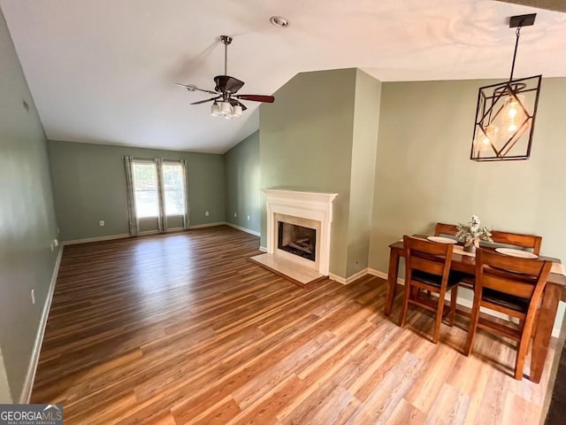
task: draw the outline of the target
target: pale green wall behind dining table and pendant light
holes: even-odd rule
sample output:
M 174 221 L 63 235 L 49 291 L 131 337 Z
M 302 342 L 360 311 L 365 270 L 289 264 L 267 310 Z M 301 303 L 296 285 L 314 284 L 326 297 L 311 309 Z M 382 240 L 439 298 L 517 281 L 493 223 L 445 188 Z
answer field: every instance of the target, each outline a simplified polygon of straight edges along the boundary
M 370 267 L 386 272 L 387 245 L 434 223 L 477 214 L 500 230 L 543 236 L 566 260 L 566 79 L 542 82 L 532 155 L 470 161 L 478 88 L 493 81 L 382 84 Z

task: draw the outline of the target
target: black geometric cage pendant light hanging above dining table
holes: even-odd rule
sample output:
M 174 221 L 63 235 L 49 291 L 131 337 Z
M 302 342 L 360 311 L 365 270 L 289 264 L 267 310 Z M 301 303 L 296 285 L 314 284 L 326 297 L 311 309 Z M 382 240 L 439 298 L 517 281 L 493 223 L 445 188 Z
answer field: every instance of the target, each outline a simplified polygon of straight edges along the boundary
M 532 13 L 509 19 L 509 27 L 516 28 L 511 74 L 509 81 L 479 88 L 470 159 L 501 161 L 528 159 L 531 155 L 542 75 L 513 80 L 513 72 L 521 28 L 532 26 L 536 16 Z

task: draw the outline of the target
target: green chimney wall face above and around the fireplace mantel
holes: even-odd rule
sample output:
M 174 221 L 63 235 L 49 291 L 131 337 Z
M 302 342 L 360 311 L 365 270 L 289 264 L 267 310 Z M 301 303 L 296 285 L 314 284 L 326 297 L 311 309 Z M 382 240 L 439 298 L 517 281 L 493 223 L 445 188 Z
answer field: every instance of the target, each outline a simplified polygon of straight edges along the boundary
M 330 272 L 346 276 L 356 69 L 299 73 L 259 114 L 261 188 L 335 192 Z M 262 239 L 266 217 L 262 202 Z

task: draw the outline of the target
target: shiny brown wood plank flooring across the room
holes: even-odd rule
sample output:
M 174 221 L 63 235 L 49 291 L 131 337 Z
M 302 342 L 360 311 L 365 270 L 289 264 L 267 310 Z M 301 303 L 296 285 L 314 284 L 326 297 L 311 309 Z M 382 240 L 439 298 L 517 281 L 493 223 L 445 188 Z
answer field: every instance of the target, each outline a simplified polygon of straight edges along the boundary
M 480 332 L 467 358 L 464 320 L 432 344 L 428 313 L 383 315 L 379 278 L 304 290 L 257 246 L 225 226 L 65 246 L 32 402 L 66 425 L 539 423 L 550 367 L 516 382 L 511 343 Z

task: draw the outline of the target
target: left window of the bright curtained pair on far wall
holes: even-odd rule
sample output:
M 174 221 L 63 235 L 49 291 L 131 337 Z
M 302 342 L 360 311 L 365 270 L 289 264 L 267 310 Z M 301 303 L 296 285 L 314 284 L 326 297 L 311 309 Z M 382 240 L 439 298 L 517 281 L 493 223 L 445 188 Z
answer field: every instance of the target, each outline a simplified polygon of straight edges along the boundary
M 135 210 L 138 219 L 148 219 L 159 215 L 157 196 L 157 171 L 153 162 L 134 161 Z

